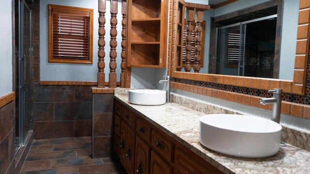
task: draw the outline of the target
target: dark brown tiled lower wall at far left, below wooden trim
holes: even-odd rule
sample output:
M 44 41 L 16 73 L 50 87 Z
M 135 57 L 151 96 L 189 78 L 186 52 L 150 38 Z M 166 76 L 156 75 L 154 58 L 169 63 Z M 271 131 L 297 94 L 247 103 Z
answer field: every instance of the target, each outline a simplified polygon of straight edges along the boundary
M 15 169 L 15 100 L 0 107 L 0 173 Z

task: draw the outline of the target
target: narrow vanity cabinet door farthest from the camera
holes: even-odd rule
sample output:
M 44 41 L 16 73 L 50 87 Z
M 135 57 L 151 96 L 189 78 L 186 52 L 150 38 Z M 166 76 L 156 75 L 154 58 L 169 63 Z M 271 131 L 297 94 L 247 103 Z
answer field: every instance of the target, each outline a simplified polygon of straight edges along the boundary
M 122 120 L 121 121 L 121 142 L 120 142 L 120 160 L 124 166 L 124 168 L 126 168 L 126 154 L 127 154 L 127 147 L 126 147 L 126 138 L 127 138 L 127 129 L 128 126 L 127 124 Z

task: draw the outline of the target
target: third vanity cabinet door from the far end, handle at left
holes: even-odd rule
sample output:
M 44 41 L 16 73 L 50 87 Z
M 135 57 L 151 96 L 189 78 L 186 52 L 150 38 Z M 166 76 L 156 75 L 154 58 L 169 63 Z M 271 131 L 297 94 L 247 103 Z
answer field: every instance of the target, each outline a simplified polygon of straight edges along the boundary
M 136 136 L 136 165 L 138 174 L 149 174 L 150 147 Z

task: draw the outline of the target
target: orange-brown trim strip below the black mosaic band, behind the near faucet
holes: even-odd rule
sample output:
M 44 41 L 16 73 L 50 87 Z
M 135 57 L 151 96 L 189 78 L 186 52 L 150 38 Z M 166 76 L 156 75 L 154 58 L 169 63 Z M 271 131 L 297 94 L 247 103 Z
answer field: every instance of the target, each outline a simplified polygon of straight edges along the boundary
M 195 94 L 205 95 L 208 97 L 213 97 L 221 100 L 226 100 L 230 102 L 236 102 L 239 104 L 244 104 L 248 106 L 253 106 L 256 108 L 261 108 L 265 110 L 271 110 L 272 105 L 263 105 L 259 102 L 259 96 L 252 96 L 247 94 L 240 94 L 236 92 L 223 91 L 219 89 L 212 89 L 207 87 L 199 87 L 195 85 L 181 84 L 177 82 L 171 82 L 171 88 L 192 92 Z M 298 116 L 305 119 L 310 119 L 310 105 L 298 104 L 292 102 L 281 102 L 281 113 L 291 116 Z

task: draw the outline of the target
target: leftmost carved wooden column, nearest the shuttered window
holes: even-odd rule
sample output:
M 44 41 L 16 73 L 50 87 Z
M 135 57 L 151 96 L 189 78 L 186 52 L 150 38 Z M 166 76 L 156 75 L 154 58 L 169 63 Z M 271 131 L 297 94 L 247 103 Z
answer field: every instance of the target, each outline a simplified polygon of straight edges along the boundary
M 98 17 L 98 23 L 99 23 L 99 29 L 98 29 L 98 73 L 97 73 L 97 87 L 105 87 L 105 24 L 106 24 L 106 18 L 105 18 L 105 13 L 106 13 L 106 0 L 99 0 L 99 17 Z

